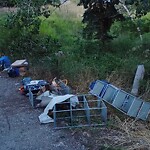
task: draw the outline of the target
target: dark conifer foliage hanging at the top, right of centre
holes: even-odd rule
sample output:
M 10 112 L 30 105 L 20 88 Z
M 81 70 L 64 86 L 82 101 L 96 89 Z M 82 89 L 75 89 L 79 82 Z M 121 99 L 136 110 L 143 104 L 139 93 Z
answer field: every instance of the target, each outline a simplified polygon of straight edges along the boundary
M 114 7 L 118 1 L 104 2 L 104 1 L 89 1 L 88 5 L 84 3 L 87 10 L 84 13 L 83 23 L 86 23 L 84 29 L 84 37 L 98 38 L 102 41 L 111 38 L 107 31 L 110 29 L 114 19 L 123 20 L 123 16 L 119 14 Z

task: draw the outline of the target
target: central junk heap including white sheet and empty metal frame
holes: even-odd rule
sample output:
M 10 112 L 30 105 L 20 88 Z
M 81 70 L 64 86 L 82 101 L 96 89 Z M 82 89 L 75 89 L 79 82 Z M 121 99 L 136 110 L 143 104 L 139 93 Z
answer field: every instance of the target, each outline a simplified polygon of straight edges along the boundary
M 30 77 L 23 78 L 20 86 L 20 93 L 28 96 L 31 106 L 33 108 L 44 108 L 44 112 L 39 116 L 40 123 L 54 123 L 55 128 L 69 127 L 68 123 L 71 122 L 71 127 L 75 126 L 90 126 L 90 117 L 92 110 L 101 110 L 103 113 L 98 113 L 106 124 L 107 108 L 105 104 L 99 100 L 87 100 L 90 94 L 74 95 L 72 89 L 68 86 L 67 79 L 57 79 L 56 77 L 52 82 L 46 80 L 32 80 Z M 91 101 L 91 102 L 90 102 Z M 89 103 L 97 103 L 96 107 L 89 107 Z M 82 115 L 79 115 L 79 112 Z M 61 117 L 60 117 L 61 114 Z M 85 123 L 81 121 L 85 118 Z M 58 120 L 65 121 L 67 125 L 58 127 Z M 75 122 L 76 121 L 76 122 Z

